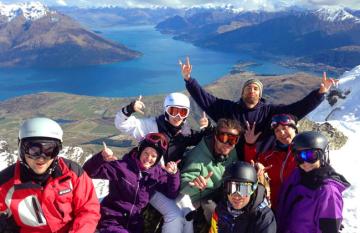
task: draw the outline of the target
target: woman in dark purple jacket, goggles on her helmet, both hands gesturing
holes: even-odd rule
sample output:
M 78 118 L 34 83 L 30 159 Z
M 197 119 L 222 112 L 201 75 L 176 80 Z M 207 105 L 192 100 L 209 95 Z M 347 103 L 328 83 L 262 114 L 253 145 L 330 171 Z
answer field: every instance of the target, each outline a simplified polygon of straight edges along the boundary
M 161 167 L 158 162 L 166 152 L 168 141 L 161 133 L 149 133 L 123 159 L 117 160 L 106 148 L 83 166 L 91 178 L 109 180 L 109 194 L 101 202 L 101 219 L 97 226 L 105 232 L 143 232 L 142 210 L 155 191 L 175 199 L 180 176 L 177 162 Z

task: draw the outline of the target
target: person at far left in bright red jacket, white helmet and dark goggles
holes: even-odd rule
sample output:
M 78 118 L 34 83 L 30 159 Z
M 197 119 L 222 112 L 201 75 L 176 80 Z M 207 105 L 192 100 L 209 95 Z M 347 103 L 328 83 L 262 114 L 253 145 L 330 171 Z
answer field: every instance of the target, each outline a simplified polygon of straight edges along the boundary
M 19 159 L 0 172 L 0 232 L 92 233 L 100 204 L 82 168 L 58 156 L 63 131 L 48 118 L 26 120 Z

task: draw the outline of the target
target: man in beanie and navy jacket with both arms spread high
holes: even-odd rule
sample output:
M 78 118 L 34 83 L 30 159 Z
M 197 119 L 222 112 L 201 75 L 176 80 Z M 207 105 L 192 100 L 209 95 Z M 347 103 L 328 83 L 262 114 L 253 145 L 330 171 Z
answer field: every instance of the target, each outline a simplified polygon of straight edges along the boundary
M 255 126 L 255 133 L 262 132 L 256 141 L 257 153 L 264 153 L 274 146 L 275 137 L 269 128 L 271 117 L 275 114 L 292 114 L 299 120 L 314 110 L 323 100 L 324 95 L 330 90 L 331 86 L 336 83 L 334 79 L 326 78 L 324 72 L 322 83 L 319 89 L 313 90 L 302 100 L 290 105 L 274 105 L 265 102 L 262 98 L 263 84 L 258 79 L 247 80 L 241 91 L 239 101 L 220 99 L 206 92 L 199 83 L 191 77 L 192 65 L 189 58 L 181 66 L 181 74 L 185 80 L 186 89 L 191 97 L 200 106 L 200 108 L 210 116 L 215 122 L 220 118 L 238 120 L 243 126 L 250 124 Z M 242 141 L 242 143 L 244 143 Z M 241 143 L 237 147 L 241 152 Z M 242 155 L 243 153 L 238 153 Z M 244 158 L 239 157 L 240 160 Z

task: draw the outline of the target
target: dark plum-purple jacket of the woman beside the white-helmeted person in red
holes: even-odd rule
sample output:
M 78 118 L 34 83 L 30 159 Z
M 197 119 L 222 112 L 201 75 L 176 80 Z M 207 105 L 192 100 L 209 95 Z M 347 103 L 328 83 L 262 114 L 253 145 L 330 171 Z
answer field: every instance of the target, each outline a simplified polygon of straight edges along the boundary
M 155 191 L 174 199 L 179 193 L 180 176 L 167 173 L 160 165 L 140 171 L 136 150 L 122 160 L 106 162 L 101 153 L 94 155 L 83 166 L 91 178 L 109 180 L 109 194 L 101 202 L 100 230 L 111 232 L 142 232 L 141 211 Z M 101 232 L 107 232 L 101 231 Z

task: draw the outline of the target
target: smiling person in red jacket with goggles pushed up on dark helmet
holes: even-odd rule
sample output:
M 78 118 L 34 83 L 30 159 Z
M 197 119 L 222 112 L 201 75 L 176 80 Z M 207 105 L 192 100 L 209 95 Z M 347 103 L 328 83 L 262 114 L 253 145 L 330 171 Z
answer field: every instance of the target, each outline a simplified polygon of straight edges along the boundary
M 258 156 L 253 150 L 248 150 L 250 153 L 245 157 L 248 162 L 254 160 L 267 167 L 266 171 L 270 178 L 271 207 L 275 210 L 280 186 L 296 168 L 290 144 L 298 132 L 297 118 L 292 114 L 274 115 L 271 118 L 271 129 L 276 138 L 275 146 Z

